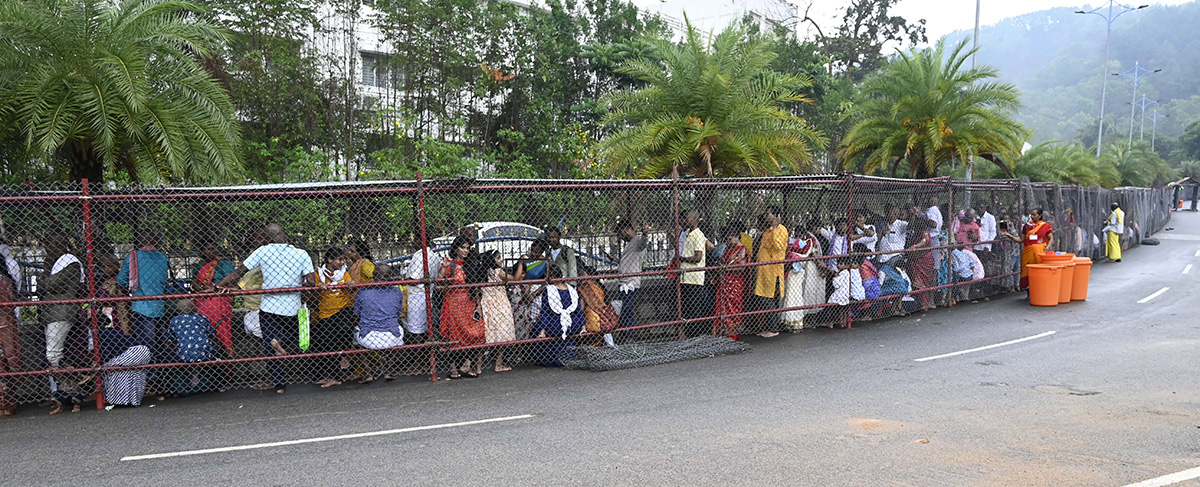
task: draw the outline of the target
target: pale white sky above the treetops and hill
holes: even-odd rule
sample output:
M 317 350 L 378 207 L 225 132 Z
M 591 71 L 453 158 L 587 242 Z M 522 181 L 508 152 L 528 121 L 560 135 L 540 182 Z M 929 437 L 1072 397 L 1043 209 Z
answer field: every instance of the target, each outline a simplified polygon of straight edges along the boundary
M 838 14 L 850 4 L 848 0 L 632 0 L 640 7 L 646 7 L 667 16 L 682 19 L 683 12 L 688 12 L 692 23 L 708 29 L 719 29 L 721 24 L 737 18 L 738 12 L 745 5 L 769 6 L 774 2 L 788 1 L 798 8 L 800 16 L 805 8 L 809 17 L 817 20 L 821 28 L 829 31 L 840 23 Z M 1130 5 L 1177 5 L 1192 0 L 1140 0 Z M 1092 6 L 1088 6 L 1088 5 Z M 980 25 L 995 24 L 1009 17 L 1037 12 L 1052 7 L 1078 7 L 1080 10 L 1092 10 L 1102 2 L 1098 0 L 982 0 L 979 23 Z M 1108 5 L 1106 1 L 1103 5 Z M 901 16 L 908 20 L 925 19 L 925 30 L 930 41 L 935 41 L 947 34 L 960 29 L 972 29 L 974 26 L 976 1 L 974 0 L 900 0 L 893 7 L 893 14 Z M 1096 19 L 1102 23 L 1102 19 Z

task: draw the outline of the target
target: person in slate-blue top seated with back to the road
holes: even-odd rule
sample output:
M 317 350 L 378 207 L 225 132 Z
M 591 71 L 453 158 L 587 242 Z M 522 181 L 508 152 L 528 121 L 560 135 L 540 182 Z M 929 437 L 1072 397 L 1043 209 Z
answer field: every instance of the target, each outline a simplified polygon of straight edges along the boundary
M 386 281 L 391 273 L 388 265 L 374 267 L 376 281 Z M 404 291 L 395 285 L 359 289 L 354 299 L 354 314 L 359 315 L 359 326 L 354 332 L 354 339 L 359 347 L 371 350 L 386 350 L 404 344 L 404 331 L 401 330 L 401 314 L 404 307 Z M 379 367 L 366 363 L 366 377 L 361 383 L 373 381 L 377 373 L 382 372 L 384 380 L 395 380 L 396 371 L 392 368 L 394 356 L 391 353 L 371 355 L 379 359 Z

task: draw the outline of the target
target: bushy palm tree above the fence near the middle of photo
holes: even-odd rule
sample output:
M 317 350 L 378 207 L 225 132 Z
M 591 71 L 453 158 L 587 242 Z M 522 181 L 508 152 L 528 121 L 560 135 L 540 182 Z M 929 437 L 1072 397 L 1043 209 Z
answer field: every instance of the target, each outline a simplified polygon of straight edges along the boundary
M 686 19 L 685 19 L 686 20 Z M 654 58 L 617 71 L 640 88 L 605 96 L 605 124 L 616 132 L 600 144 L 608 172 L 661 178 L 672 167 L 698 178 L 799 173 L 826 139 L 785 103 L 808 102 L 796 90 L 811 80 L 767 66 L 773 41 L 733 25 L 710 44 L 686 23 L 684 41 L 650 41 Z

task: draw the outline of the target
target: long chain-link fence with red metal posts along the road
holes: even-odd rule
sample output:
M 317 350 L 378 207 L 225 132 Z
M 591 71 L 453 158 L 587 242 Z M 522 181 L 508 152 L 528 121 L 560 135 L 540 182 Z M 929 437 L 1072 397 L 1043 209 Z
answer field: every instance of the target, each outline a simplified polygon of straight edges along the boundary
M 612 369 L 1010 291 L 1165 190 L 817 175 L 0 190 L 0 410 Z M 701 338 L 703 337 L 703 338 Z

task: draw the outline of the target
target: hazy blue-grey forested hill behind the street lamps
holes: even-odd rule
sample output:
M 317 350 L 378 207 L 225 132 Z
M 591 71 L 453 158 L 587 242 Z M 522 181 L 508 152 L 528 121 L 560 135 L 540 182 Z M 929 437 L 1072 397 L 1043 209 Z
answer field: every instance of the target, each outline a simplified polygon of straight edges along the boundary
M 1000 70 L 1001 78 L 1021 89 L 1025 108 L 1020 120 L 1033 131 L 1033 143 L 1046 140 L 1096 142 L 1099 114 L 1100 64 L 1104 59 L 1105 22 L 1075 8 L 1051 8 L 1014 17 L 979 32 L 979 64 Z M 967 40 L 970 31 L 956 31 L 948 41 Z M 1112 24 L 1106 73 L 1126 72 L 1139 61 L 1150 70 L 1163 70 L 1138 83 L 1140 98 L 1158 100 L 1166 119 L 1158 121 L 1158 134 L 1178 137 L 1183 127 L 1200 119 L 1200 1 L 1176 6 L 1151 6 L 1121 16 Z M 1133 80 L 1109 76 L 1105 103 L 1105 138 L 1124 139 L 1129 131 L 1129 102 Z M 1135 124 L 1134 138 L 1140 125 Z M 1146 139 L 1151 137 L 1146 121 Z

